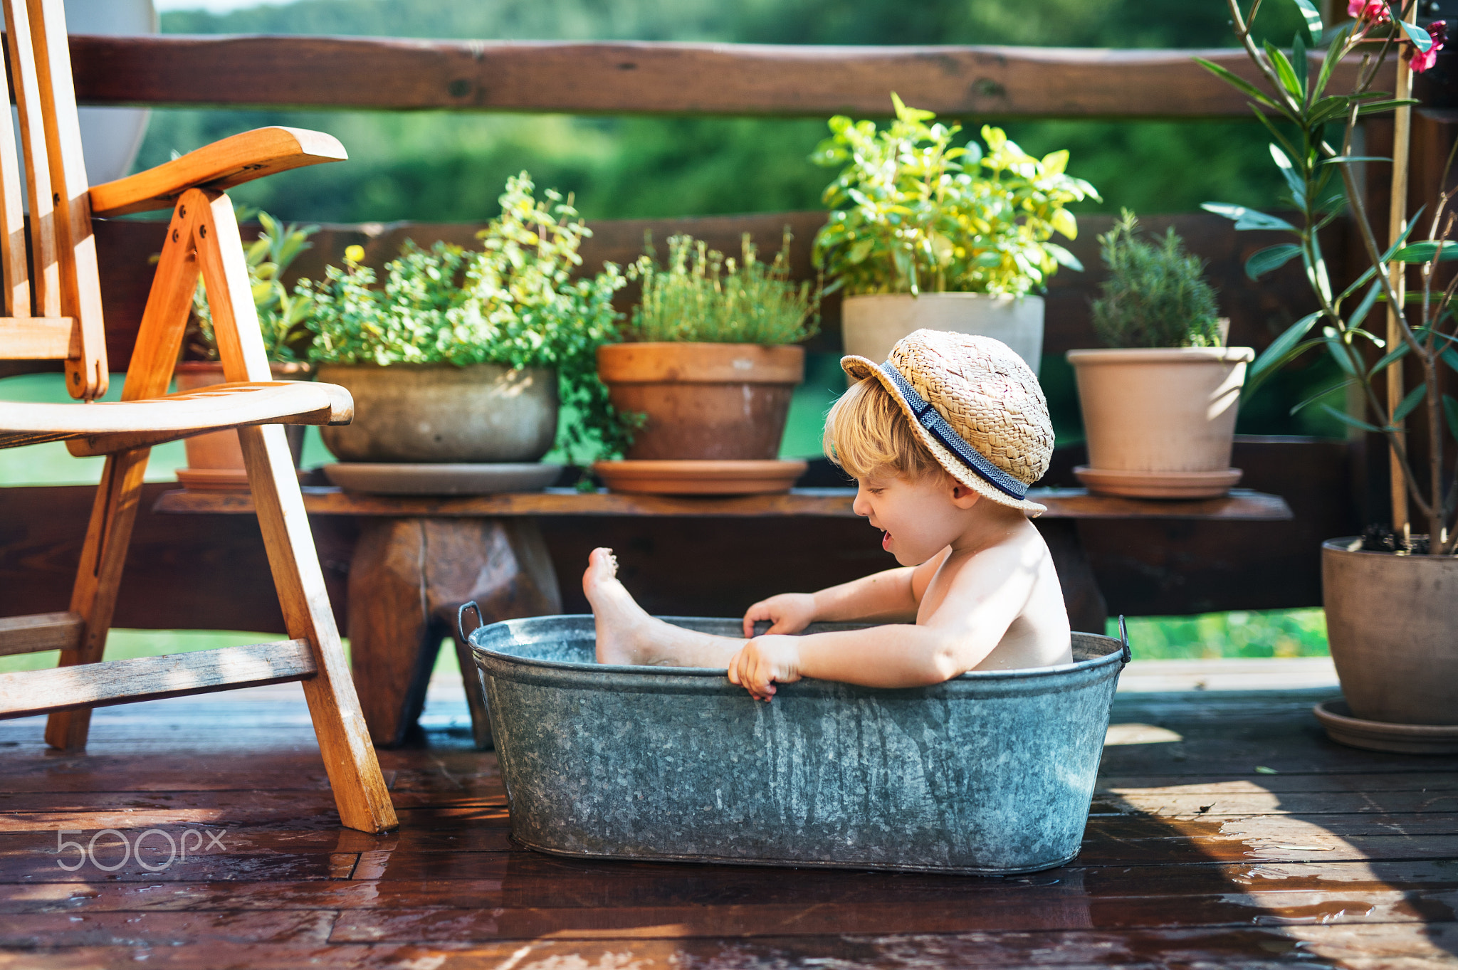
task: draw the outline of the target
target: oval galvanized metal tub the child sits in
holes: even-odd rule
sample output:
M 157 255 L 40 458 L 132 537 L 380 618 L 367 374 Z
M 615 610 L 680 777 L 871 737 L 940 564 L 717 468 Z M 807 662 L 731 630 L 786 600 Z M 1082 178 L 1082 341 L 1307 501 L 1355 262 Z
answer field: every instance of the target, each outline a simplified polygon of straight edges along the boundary
M 723 670 L 595 663 L 592 616 L 468 641 L 512 836 L 532 849 L 978 875 L 1077 855 L 1127 661 L 1118 639 L 1073 634 L 1066 666 L 908 690 L 802 680 L 763 703 Z

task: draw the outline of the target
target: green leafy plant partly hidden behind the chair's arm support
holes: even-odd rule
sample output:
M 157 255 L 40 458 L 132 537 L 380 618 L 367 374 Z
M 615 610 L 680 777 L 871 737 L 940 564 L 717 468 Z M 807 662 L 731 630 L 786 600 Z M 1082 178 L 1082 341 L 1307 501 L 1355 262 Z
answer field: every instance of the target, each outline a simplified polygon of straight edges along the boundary
M 312 310 L 308 293 L 289 293 L 283 285 L 283 274 L 305 249 L 312 249 L 309 236 L 319 232 L 318 226 L 287 226 L 268 213 L 258 213 L 262 232 L 248 245 L 248 283 L 254 291 L 254 307 L 258 310 L 258 325 L 264 335 L 264 350 L 268 360 L 284 364 L 303 361 L 311 339 L 305 326 Z M 203 281 L 197 281 L 192 294 L 192 316 L 195 329 L 188 345 L 204 360 L 217 360 L 217 341 L 213 336 L 213 313 L 207 304 Z

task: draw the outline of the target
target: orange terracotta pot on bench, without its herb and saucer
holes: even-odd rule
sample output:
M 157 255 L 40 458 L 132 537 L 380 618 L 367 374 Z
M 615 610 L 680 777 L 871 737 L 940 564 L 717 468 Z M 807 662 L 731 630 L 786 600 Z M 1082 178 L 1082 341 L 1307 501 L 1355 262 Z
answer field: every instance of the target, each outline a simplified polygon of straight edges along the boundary
M 780 454 L 805 348 L 607 344 L 598 376 L 614 408 L 647 415 L 630 460 L 767 460 Z

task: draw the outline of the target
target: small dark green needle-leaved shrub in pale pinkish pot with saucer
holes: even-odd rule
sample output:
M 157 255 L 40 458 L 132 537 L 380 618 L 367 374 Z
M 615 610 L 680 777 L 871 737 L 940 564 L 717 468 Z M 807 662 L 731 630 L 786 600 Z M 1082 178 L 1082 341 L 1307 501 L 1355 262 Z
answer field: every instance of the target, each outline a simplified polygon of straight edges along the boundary
M 1127 208 L 1099 236 L 1110 278 L 1094 300 L 1094 332 L 1108 350 L 1069 351 L 1083 406 L 1089 491 L 1143 498 L 1223 495 L 1250 347 L 1225 347 L 1204 262 L 1174 229 L 1139 237 Z

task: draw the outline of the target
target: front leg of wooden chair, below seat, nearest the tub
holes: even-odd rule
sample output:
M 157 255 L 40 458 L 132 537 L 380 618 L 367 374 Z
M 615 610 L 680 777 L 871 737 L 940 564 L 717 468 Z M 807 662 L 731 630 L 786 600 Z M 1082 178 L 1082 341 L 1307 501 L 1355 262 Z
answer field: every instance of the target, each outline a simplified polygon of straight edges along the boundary
M 399 824 L 395 807 L 385 789 L 330 610 L 284 430 L 280 425 L 238 428 L 238 440 L 289 636 L 309 641 L 319 669 L 303 682 L 303 696 L 309 702 L 340 820 L 362 832 L 395 829 Z

